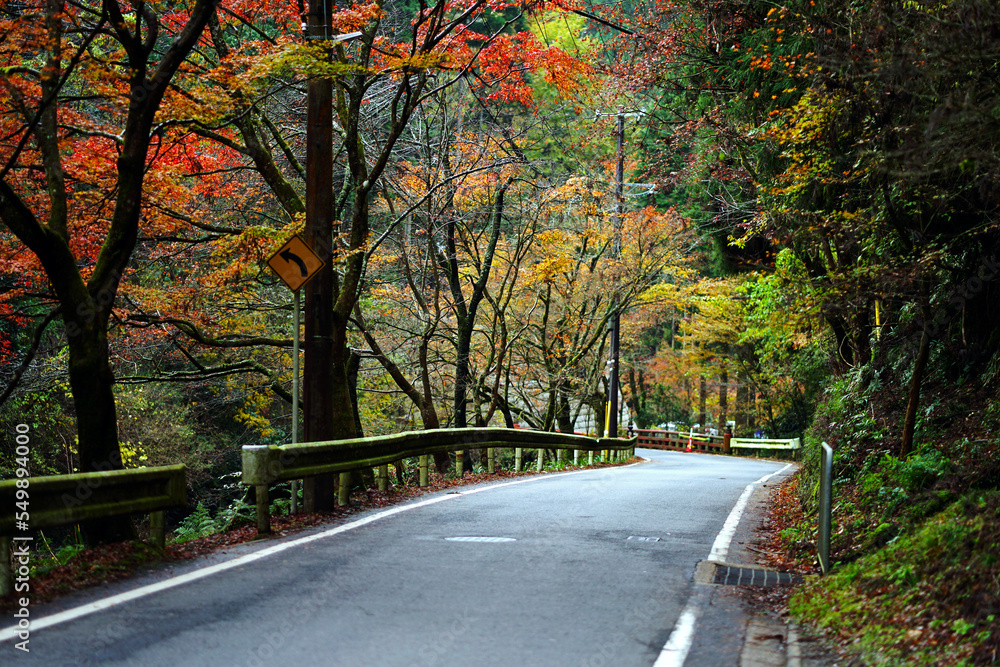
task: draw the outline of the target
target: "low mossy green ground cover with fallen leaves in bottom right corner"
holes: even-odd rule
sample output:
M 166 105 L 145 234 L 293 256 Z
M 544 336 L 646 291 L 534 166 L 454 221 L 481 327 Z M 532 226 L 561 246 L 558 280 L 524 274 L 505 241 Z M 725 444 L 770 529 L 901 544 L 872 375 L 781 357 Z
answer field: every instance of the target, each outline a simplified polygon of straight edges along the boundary
M 998 519 L 1000 493 L 968 495 L 809 581 L 793 596 L 792 614 L 847 639 L 864 664 L 986 664 L 1000 646 L 1000 604 L 989 583 L 1000 576 Z

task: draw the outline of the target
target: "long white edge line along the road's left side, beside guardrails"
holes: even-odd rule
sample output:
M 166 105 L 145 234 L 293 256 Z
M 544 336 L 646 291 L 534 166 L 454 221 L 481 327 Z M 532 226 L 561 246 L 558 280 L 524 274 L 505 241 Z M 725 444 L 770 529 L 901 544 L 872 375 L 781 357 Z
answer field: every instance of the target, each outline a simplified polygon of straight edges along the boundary
M 632 466 L 639 465 L 638 463 L 630 463 L 625 466 L 617 466 L 611 468 L 611 470 L 621 470 L 623 468 L 631 468 Z M 453 498 L 461 498 L 462 496 L 470 496 L 476 493 L 482 493 L 483 491 L 491 491 L 493 489 L 499 489 L 505 486 L 513 486 L 515 484 L 525 484 L 527 482 L 537 482 L 545 479 L 555 479 L 556 477 L 565 477 L 567 475 L 576 475 L 583 472 L 591 472 L 590 470 L 571 470 L 570 472 L 556 473 L 554 475 L 538 475 L 528 477 L 526 479 L 518 479 L 511 482 L 502 482 L 500 484 L 490 484 L 487 486 L 470 489 L 468 491 L 460 491 L 458 493 L 448 493 L 442 494 L 440 496 L 435 496 L 433 498 L 428 498 L 427 500 L 420 500 L 415 503 L 410 503 L 408 505 L 399 505 L 397 507 L 392 507 L 375 514 L 370 514 L 366 517 L 362 517 L 355 521 L 336 526 L 329 530 L 325 530 L 321 533 L 316 533 L 314 535 L 307 535 L 306 537 L 301 537 L 296 540 L 290 540 L 288 542 L 282 542 L 281 544 L 276 544 L 272 547 L 266 547 L 260 551 L 255 551 L 251 554 L 246 554 L 233 560 L 228 560 L 224 563 L 217 563 L 215 565 L 210 565 L 208 567 L 202 568 L 200 570 L 194 570 L 193 572 L 188 572 L 187 574 L 182 574 L 171 579 L 166 579 L 164 581 L 157 582 L 155 584 L 149 584 L 147 586 L 141 586 L 139 588 L 133 589 L 131 591 L 126 591 L 125 593 L 119 593 L 118 595 L 112 595 L 111 597 L 104 598 L 102 600 L 96 600 L 79 607 L 74 607 L 72 609 L 67 609 L 66 611 L 61 611 L 57 614 L 52 614 L 51 616 L 43 616 L 41 618 L 35 618 L 31 620 L 31 630 L 41 630 L 44 628 L 51 627 L 53 625 L 60 625 L 62 623 L 67 623 L 69 621 L 81 618 L 83 616 L 88 616 L 98 611 L 103 611 L 105 609 L 110 609 L 111 607 L 116 607 L 125 602 L 131 600 L 136 600 L 147 595 L 153 595 L 154 593 L 159 593 L 160 591 L 165 591 L 170 588 L 175 588 L 177 586 L 182 586 L 184 584 L 190 583 L 192 581 L 197 581 L 198 579 L 204 579 L 205 577 L 212 576 L 213 574 L 218 574 L 219 572 L 224 572 L 226 570 L 231 570 L 234 567 L 239 567 L 241 565 L 246 565 L 247 563 L 252 563 L 256 560 L 262 558 L 267 558 L 268 556 L 273 556 L 274 554 L 281 553 L 288 549 L 292 549 L 302 544 L 307 544 L 309 542 L 315 542 L 316 540 L 321 540 L 327 537 L 333 537 L 334 535 L 339 535 L 340 533 L 346 533 L 349 530 L 354 530 L 355 528 L 360 528 L 366 526 L 370 523 L 380 521 L 381 519 L 388 518 L 390 516 L 400 514 L 401 512 L 408 512 L 410 510 L 417 509 L 419 507 L 426 507 L 427 505 L 434 505 L 436 503 L 443 502 L 445 500 L 451 500 Z M 18 626 L 12 625 L 0 630 L 0 642 L 5 642 L 10 639 L 17 637 L 17 633 L 20 631 Z

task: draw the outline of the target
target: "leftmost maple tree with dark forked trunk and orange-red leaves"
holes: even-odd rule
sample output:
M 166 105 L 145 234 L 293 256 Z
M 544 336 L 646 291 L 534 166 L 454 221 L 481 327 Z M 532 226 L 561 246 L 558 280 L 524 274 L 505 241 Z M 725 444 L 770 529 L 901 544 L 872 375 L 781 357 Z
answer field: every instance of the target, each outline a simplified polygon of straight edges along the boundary
M 83 470 L 121 467 L 108 322 L 139 236 L 147 163 L 159 143 L 156 114 L 214 6 L 202 0 L 184 15 L 159 16 L 142 6 L 126 17 L 117 2 L 53 1 L 3 21 L 0 220 L 37 258 L 34 271 L 51 286 L 65 326 Z M 96 87 L 105 103 L 91 116 L 73 100 L 83 81 L 107 73 L 91 57 L 98 48 L 114 51 L 117 76 Z M 98 167 L 95 196 L 74 163 L 91 154 L 88 144 L 102 143 L 117 157 L 109 171 Z M 112 187 L 100 188 L 102 181 Z M 88 535 L 119 537 L 126 523 L 89 526 Z

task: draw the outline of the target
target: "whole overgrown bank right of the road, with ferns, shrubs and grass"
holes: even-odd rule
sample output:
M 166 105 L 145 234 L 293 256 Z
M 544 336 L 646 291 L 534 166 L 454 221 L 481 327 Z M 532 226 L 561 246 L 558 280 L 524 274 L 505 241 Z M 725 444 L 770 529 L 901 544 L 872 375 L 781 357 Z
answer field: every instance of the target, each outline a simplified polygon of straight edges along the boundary
M 916 451 L 897 458 L 877 378 L 839 380 L 807 434 L 785 555 L 814 560 L 818 447 L 835 447 L 834 572 L 793 595 L 796 618 L 863 664 L 1000 664 L 1000 405 L 982 385 L 930 386 Z

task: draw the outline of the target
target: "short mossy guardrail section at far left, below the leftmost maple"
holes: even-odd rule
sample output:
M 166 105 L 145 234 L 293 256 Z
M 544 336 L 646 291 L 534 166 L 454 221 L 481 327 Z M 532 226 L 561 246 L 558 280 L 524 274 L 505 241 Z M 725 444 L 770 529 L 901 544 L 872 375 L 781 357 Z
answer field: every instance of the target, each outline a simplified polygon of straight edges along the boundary
M 0 482 L 0 595 L 13 590 L 11 539 L 39 528 L 150 513 L 150 541 L 164 546 L 164 510 L 187 505 L 184 465 L 24 477 Z

